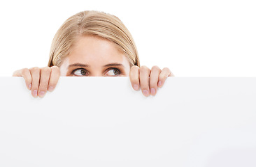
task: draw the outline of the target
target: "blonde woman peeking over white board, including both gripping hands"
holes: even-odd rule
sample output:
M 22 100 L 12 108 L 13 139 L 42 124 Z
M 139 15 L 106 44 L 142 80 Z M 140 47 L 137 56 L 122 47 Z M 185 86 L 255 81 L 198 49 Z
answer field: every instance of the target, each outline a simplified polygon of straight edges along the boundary
M 13 73 L 24 77 L 34 97 L 54 90 L 59 76 L 129 76 L 134 90 L 155 95 L 167 77 L 168 68 L 140 67 L 138 51 L 128 29 L 115 17 L 84 11 L 69 17 L 57 31 L 50 49 L 48 67 L 32 67 Z

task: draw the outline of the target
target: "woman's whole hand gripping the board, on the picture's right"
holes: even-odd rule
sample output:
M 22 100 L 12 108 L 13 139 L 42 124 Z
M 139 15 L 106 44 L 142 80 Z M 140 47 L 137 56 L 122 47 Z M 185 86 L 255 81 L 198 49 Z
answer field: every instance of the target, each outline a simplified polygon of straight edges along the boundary
M 148 97 L 149 95 L 155 95 L 157 88 L 164 85 L 166 78 L 174 77 L 174 74 L 166 67 L 161 70 L 159 67 L 153 66 L 150 70 L 144 65 L 141 67 L 134 65 L 131 67 L 129 76 L 134 90 L 138 90 L 141 86 L 141 92 Z

